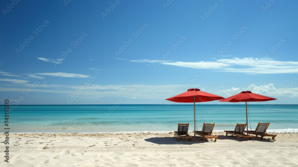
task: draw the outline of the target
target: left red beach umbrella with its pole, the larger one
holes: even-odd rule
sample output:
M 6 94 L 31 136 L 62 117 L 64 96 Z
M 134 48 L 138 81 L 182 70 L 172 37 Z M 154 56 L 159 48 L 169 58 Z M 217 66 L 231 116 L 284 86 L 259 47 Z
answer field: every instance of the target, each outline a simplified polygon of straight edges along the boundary
M 188 89 L 187 92 L 167 98 L 166 100 L 179 103 L 193 103 L 193 115 L 195 120 L 195 102 L 206 102 L 213 100 L 224 99 L 221 96 L 212 95 L 210 93 L 202 92 L 200 89 Z

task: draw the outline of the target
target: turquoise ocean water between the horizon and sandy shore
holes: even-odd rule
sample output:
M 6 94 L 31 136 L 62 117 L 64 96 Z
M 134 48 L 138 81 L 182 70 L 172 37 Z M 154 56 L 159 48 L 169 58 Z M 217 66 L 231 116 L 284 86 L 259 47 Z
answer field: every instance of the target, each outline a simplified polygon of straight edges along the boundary
M 270 122 L 267 132 L 298 132 L 298 105 L 248 108 L 249 130 Z M 246 123 L 245 104 L 196 104 L 196 119 L 198 130 L 203 123 L 215 123 L 214 131 L 234 130 L 236 123 Z M 19 105 L 10 108 L 8 128 L 11 133 L 165 132 L 176 130 L 178 123 L 194 129 L 193 105 Z

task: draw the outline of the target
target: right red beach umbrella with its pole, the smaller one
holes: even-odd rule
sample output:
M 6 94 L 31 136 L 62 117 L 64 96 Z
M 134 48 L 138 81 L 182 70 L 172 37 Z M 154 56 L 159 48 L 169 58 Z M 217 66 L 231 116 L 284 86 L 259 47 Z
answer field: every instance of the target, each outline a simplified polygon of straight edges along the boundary
M 219 100 L 219 101 L 224 101 L 224 102 L 244 102 L 245 101 L 245 106 L 246 106 L 246 125 L 247 124 L 247 102 L 248 101 L 269 101 L 269 100 L 277 100 L 275 98 L 270 98 L 267 96 L 263 95 L 258 95 L 255 93 L 252 93 L 251 91 L 242 91 L 238 93 L 237 95 L 231 96 L 229 98 L 226 98 L 224 100 Z M 246 126 L 246 130 L 248 131 L 248 126 Z

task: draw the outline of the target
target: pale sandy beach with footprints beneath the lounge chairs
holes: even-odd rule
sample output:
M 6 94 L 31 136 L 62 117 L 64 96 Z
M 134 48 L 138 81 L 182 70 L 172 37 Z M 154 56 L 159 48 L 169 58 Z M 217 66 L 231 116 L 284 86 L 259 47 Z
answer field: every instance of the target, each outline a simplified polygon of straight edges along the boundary
M 189 133 L 193 135 L 193 133 Z M 12 133 L 1 166 L 298 166 L 298 133 L 252 140 L 219 135 L 177 141 L 168 133 Z M 180 139 L 179 139 L 180 140 Z M 193 140 L 193 138 L 192 138 Z M 1 135 L 1 141 L 4 141 Z M 7 145 L 5 145 L 7 146 Z

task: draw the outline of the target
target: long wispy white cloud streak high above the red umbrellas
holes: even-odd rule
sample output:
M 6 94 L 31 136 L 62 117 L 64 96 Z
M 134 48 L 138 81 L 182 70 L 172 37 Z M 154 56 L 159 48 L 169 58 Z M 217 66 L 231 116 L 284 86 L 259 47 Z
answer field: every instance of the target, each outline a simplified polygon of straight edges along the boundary
M 220 72 L 241 72 L 246 74 L 285 74 L 298 73 L 298 61 L 277 61 L 272 58 L 232 58 L 215 61 L 182 62 L 159 60 L 130 60 L 139 63 L 159 63 L 195 69 L 215 69 Z

